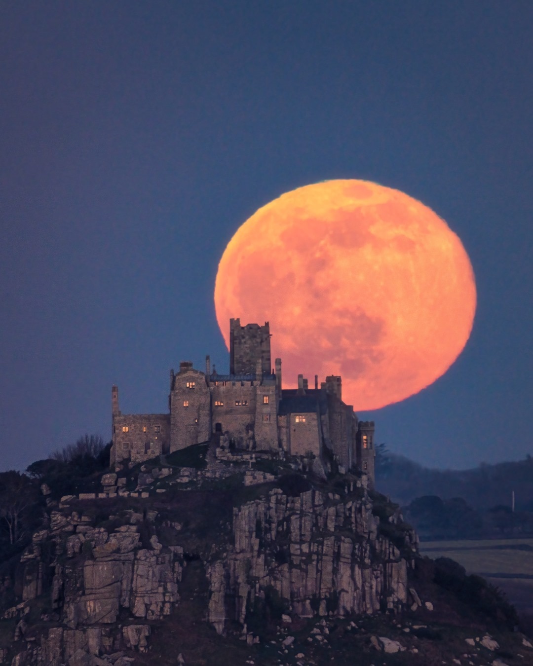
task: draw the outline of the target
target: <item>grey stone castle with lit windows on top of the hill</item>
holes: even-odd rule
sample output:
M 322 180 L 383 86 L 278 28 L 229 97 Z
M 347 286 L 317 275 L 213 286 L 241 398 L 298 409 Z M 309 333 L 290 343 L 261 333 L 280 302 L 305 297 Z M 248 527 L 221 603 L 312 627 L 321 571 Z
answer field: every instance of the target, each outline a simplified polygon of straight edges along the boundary
M 228 450 L 284 452 L 316 460 L 334 458 L 374 482 L 374 422 L 359 421 L 342 402 L 342 380 L 326 377 L 314 388 L 298 375 L 297 389 L 283 389 L 281 359 L 270 360 L 270 327 L 230 320 L 230 372 L 217 374 L 206 357 L 205 372 L 181 362 L 171 370 L 169 413 L 122 414 L 112 389 L 111 466 L 120 468 L 192 444 L 215 442 Z

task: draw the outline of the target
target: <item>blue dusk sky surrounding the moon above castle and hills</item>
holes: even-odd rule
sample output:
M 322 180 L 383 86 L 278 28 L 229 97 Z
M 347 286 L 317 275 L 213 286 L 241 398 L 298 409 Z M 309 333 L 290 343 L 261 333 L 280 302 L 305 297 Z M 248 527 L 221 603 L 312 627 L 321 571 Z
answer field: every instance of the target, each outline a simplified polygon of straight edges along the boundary
M 180 360 L 227 370 L 227 242 L 331 178 L 420 199 L 476 274 L 464 352 L 360 414 L 376 440 L 441 468 L 533 454 L 532 35 L 531 0 L 1 3 L 1 468 L 108 441 L 113 383 L 164 412 Z

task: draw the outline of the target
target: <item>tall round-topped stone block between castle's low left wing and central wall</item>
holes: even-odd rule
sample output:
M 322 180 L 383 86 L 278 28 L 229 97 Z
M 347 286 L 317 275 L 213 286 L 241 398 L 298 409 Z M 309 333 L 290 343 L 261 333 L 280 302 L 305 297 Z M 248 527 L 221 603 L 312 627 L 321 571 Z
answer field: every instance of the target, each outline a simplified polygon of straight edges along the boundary
M 189 386 L 187 386 L 189 384 Z M 211 438 L 211 397 L 205 374 L 181 370 L 171 391 L 171 452 Z

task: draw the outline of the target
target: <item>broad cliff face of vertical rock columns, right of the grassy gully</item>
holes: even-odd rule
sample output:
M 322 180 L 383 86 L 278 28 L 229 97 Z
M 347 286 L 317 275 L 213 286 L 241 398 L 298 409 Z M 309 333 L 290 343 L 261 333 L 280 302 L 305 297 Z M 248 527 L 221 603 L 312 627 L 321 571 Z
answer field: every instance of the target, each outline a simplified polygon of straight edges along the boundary
M 207 566 L 209 621 L 245 625 L 255 599 L 274 590 L 297 617 L 398 610 L 408 601 L 408 562 L 386 537 L 361 482 L 344 497 L 308 490 L 296 497 L 274 488 L 233 511 L 233 543 Z M 355 490 L 355 492 L 354 492 Z M 359 498 L 357 497 L 359 496 Z M 392 521 L 399 521 L 397 514 Z M 406 531 L 416 553 L 416 535 Z M 226 599 L 235 599 L 228 617 Z

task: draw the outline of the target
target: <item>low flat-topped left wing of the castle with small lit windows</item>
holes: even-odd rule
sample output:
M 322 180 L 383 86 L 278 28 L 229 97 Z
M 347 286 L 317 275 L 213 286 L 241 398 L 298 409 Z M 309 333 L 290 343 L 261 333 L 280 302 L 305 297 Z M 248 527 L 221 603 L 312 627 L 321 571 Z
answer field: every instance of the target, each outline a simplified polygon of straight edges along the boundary
M 169 414 L 114 414 L 111 460 L 142 462 L 170 450 Z

